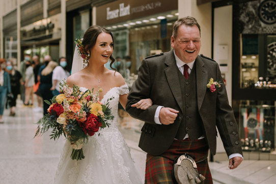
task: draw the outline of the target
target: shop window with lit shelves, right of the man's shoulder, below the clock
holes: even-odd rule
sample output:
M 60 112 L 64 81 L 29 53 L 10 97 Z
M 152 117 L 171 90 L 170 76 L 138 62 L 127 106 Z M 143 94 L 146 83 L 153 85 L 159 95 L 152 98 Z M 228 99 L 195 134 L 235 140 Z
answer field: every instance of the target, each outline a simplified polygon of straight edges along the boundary
M 276 35 L 241 36 L 240 88 L 276 88 Z

